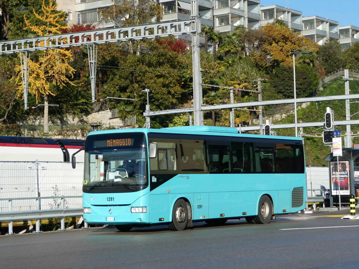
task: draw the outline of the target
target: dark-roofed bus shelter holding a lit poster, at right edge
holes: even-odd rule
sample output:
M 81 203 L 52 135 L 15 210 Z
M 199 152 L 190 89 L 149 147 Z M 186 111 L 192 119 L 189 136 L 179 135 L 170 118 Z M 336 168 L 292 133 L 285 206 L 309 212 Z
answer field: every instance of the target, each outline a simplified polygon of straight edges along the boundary
M 338 159 L 337 159 L 338 158 Z M 343 148 L 342 156 L 325 157 L 329 167 L 330 205 L 349 206 L 350 195 L 359 197 L 359 148 Z

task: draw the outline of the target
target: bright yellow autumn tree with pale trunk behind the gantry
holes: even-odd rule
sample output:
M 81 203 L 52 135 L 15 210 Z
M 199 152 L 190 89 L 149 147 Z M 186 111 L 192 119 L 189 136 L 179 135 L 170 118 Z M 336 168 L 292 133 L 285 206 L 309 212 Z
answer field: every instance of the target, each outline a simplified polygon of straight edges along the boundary
M 30 22 L 25 16 L 24 20 L 26 27 L 24 29 L 31 29 L 38 36 L 48 36 L 52 34 L 60 34 L 62 29 L 68 28 L 61 22 L 65 19 L 63 11 L 56 10 L 54 1 L 49 1 L 46 5 L 45 1 L 42 2 L 42 14 L 33 13 L 35 17 L 42 22 L 42 25 L 36 25 Z M 45 44 L 45 43 L 44 43 Z M 41 51 L 38 57 L 34 57 L 30 61 L 29 67 L 29 93 L 36 97 L 36 102 L 39 103 L 40 99 L 44 99 L 44 132 L 48 132 L 48 103 L 47 96 L 56 95 L 53 86 L 63 88 L 66 84 L 74 85 L 69 77 L 72 77 L 75 69 L 73 69 L 69 62 L 73 60 L 73 56 L 69 50 L 66 49 L 47 49 Z M 18 66 L 18 74 L 21 72 L 21 67 Z M 21 95 L 21 93 L 20 93 Z

